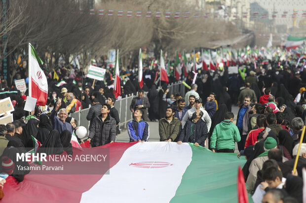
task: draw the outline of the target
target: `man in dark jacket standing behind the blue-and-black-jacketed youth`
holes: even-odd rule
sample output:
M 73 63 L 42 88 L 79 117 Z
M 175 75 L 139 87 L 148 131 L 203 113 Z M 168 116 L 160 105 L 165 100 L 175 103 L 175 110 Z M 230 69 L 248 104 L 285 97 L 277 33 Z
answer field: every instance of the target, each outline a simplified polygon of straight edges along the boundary
M 147 113 L 147 108 L 150 108 L 150 102 L 149 99 L 147 97 L 144 97 L 144 91 L 143 90 L 139 90 L 138 91 L 138 97 L 134 97 L 132 99 L 131 105 L 130 105 L 130 110 L 131 112 L 134 113 L 135 109 L 141 109 L 144 114 L 142 116 L 144 121 L 150 121 L 149 117 L 148 117 L 148 113 Z

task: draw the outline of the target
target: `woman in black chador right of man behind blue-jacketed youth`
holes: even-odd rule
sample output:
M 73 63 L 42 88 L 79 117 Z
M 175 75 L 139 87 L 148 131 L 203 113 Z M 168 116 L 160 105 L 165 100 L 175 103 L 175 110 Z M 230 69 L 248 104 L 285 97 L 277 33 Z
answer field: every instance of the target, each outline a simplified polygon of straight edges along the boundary
M 149 118 L 150 120 L 158 119 L 158 91 L 156 90 L 156 86 L 153 85 L 148 93 L 148 99 L 150 102 L 149 107 Z

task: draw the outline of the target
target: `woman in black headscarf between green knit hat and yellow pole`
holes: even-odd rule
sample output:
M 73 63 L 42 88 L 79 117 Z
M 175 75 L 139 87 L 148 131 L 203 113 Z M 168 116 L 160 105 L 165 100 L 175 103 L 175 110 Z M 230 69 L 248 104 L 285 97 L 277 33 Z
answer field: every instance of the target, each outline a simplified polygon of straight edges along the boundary
M 293 139 L 287 130 L 280 130 L 278 133 L 279 149 L 283 156 L 292 159 Z

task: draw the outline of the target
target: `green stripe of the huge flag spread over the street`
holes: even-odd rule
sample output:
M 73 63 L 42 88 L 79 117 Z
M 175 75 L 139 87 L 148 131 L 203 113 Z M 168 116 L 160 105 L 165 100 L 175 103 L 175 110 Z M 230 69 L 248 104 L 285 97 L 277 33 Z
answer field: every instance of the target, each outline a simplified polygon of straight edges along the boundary
M 238 166 L 243 167 L 245 158 L 190 146 L 191 163 L 170 203 L 237 203 Z

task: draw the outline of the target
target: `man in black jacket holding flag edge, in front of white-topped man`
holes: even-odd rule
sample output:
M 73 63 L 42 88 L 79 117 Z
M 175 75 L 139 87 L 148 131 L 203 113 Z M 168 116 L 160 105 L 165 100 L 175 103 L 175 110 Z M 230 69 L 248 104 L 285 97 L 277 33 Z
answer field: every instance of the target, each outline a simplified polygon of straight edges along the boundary
M 186 122 L 183 130 L 180 133 L 178 144 L 181 145 L 184 143 L 194 143 L 194 146 L 204 146 L 205 140 L 207 138 L 207 126 L 205 121 L 201 118 L 203 116 L 203 112 L 200 110 L 196 110 L 191 119 Z

